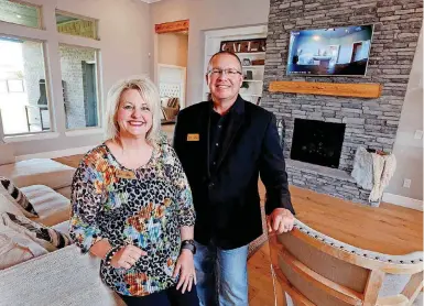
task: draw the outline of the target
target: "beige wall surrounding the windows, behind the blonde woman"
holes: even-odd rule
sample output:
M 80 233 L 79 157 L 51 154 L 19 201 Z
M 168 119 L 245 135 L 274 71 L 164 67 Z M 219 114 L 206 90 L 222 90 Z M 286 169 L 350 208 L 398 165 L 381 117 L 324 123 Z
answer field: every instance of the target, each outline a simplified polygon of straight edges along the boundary
M 66 136 L 63 109 L 58 43 L 81 45 L 86 42 L 100 48 L 102 99 L 107 90 L 122 77 L 150 73 L 150 45 L 152 28 L 150 4 L 140 0 L 26 0 L 43 6 L 45 30 L 36 30 L 0 22 L 0 34 L 37 37 L 47 41 L 48 73 L 53 83 L 51 90 L 52 112 L 55 114 L 57 136 L 48 140 L 13 142 L 15 155 L 28 155 L 48 151 L 96 145 L 102 141 L 102 133 Z M 56 32 L 55 9 L 98 19 L 100 41 L 58 34 Z M 104 107 L 102 107 L 104 109 Z M 69 134 L 69 133 L 68 133 Z M 1 140 L 0 140 L 1 141 Z

